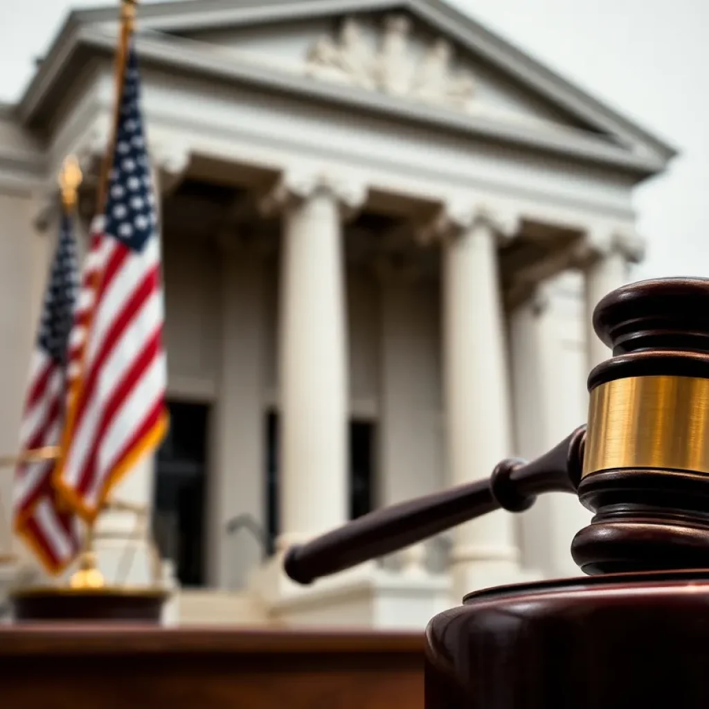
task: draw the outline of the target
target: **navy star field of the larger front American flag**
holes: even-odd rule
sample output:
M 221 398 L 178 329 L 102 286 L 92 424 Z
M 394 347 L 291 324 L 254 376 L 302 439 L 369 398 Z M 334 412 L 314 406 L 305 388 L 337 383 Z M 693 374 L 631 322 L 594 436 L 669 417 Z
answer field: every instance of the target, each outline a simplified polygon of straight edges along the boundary
M 104 233 L 140 252 L 157 230 L 157 211 L 140 114 L 138 60 L 132 43 L 128 52 Z

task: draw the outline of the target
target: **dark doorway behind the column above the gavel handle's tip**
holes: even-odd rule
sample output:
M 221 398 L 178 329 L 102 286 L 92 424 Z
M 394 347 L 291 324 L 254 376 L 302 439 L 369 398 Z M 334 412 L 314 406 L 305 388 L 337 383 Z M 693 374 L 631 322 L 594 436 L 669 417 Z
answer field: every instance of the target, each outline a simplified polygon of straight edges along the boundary
M 375 481 L 375 430 L 373 421 L 350 421 L 350 519 L 372 511 Z M 266 520 L 268 553 L 274 553 L 279 534 L 278 470 L 279 470 L 279 417 L 274 411 L 266 415 Z

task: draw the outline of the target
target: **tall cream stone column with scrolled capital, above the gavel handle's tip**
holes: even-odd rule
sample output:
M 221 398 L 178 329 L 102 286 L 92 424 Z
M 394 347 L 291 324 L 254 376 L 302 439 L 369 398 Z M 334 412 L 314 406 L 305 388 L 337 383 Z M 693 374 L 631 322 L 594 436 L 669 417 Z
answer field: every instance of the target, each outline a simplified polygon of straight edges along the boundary
M 343 211 L 361 186 L 286 174 L 262 203 L 284 215 L 279 315 L 279 548 L 347 520 Z

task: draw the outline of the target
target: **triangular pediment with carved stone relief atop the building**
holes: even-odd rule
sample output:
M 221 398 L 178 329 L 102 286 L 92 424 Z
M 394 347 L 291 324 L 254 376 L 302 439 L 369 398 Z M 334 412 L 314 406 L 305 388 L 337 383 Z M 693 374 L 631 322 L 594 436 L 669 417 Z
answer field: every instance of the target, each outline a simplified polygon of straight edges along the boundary
M 279 90 L 389 116 L 400 111 L 407 120 L 607 160 L 641 174 L 659 172 L 675 155 L 440 0 L 169 1 L 141 6 L 138 29 L 144 57 L 172 62 L 176 71 L 222 79 L 231 71 L 235 80 L 272 87 L 283 77 Z M 96 31 L 103 40 L 91 38 Z M 26 120 L 44 100 L 52 72 L 61 71 L 49 60 L 69 56 L 62 43 L 73 36 L 105 46 L 115 32 L 115 7 L 72 13 L 21 103 Z

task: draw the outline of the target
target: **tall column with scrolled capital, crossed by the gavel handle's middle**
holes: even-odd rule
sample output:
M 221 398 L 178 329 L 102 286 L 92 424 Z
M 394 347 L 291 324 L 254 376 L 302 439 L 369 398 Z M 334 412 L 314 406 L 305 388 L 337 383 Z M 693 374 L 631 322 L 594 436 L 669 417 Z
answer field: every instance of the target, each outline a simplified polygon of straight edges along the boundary
M 515 233 L 482 211 L 446 208 L 442 238 L 443 392 L 451 484 L 491 474 L 512 453 L 505 324 L 497 243 Z M 453 590 L 458 598 L 519 580 L 510 513 L 486 515 L 455 532 Z

